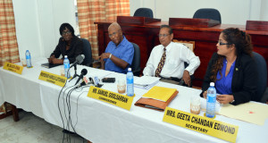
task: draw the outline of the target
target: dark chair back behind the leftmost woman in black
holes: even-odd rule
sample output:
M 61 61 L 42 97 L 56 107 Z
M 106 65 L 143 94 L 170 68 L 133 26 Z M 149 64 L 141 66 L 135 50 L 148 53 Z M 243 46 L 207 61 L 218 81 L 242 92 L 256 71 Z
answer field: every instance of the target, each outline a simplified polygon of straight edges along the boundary
M 85 55 L 85 59 L 82 64 L 86 66 L 91 66 L 91 63 L 93 62 L 91 45 L 88 39 L 81 38 L 81 40 L 83 42 L 83 54 Z

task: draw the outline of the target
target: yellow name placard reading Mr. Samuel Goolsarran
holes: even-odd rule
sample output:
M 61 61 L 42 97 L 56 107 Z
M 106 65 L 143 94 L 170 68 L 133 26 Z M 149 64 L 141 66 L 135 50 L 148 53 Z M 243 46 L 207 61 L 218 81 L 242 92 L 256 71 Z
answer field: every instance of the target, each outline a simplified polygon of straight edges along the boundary
M 133 97 L 128 97 L 115 93 L 103 88 L 96 88 L 91 86 L 88 91 L 88 97 L 95 98 L 100 101 L 104 101 L 111 105 L 119 106 L 123 109 L 130 110 L 130 107 L 133 102 Z

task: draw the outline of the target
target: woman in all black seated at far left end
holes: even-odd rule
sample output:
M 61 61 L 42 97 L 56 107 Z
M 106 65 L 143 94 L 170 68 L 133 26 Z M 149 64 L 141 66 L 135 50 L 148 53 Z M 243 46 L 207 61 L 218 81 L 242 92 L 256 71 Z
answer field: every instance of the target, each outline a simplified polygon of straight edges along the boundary
M 60 34 L 62 38 L 59 39 L 59 43 L 48 58 L 48 62 L 63 64 L 64 55 L 67 55 L 70 63 L 73 63 L 75 58 L 83 53 L 83 43 L 80 38 L 74 35 L 74 29 L 69 23 L 61 25 Z M 63 55 L 63 57 L 58 59 L 60 55 Z

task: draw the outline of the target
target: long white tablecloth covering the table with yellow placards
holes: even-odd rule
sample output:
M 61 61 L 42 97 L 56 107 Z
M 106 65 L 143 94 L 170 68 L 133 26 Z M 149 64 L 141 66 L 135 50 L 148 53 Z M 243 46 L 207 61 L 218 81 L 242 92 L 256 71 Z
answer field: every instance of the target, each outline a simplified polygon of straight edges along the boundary
M 44 62 L 46 62 L 46 59 L 45 61 L 44 59 L 34 61 L 34 67 L 31 69 L 24 68 L 22 75 L 5 71 L 2 67 L 0 69 L 0 104 L 7 101 L 44 118 L 46 122 L 63 127 L 57 105 L 58 96 L 62 88 L 46 81 L 38 80 L 41 70 L 60 74 L 60 67 L 46 69 L 40 66 L 40 63 Z M 87 77 L 98 76 L 100 79 L 103 77 L 125 78 L 124 74 L 83 66 L 78 66 L 78 74 L 80 74 L 83 68 L 88 70 Z M 71 75 L 73 73 L 74 71 L 71 69 Z M 75 80 L 67 82 L 66 87 L 71 87 Z M 157 86 L 177 88 L 179 94 L 169 106 L 185 112 L 189 112 L 190 97 L 198 96 L 201 92 L 198 89 L 163 82 L 159 82 Z M 113 83 L 105 83 L 102 88 L 116 92 L 116 84 Z M 216 139 L 194 130 L 163 122 L 163 112 L 134 105 L 139 97 L 147 92 L 146 89 L 135 88 L 136 97 L 134 97 L 130 111 L 87 97 L 88 89 L 82 88 L 71 93 L 71 122 L 75 125 L 74 128 L 80 136 L 94 143 L 226 142 L 225 140 Z M 63 103 L 63 101 L 66 101 L 67 91 L 69 89 L 66 90 L 64 96 L 62 94 L 60 97 L 59 104 L 65 127 L 66 117 L 67 119 L 69 118 L 67 105 L 65 102 Z M 202 114 L 204 113 L 201 112 L 200 115 Z M 264 126 L 241 122 L 222 115 L 217 115 L 215 120 L 238 125 L 237 142 L 267 142 L 267 120 Z

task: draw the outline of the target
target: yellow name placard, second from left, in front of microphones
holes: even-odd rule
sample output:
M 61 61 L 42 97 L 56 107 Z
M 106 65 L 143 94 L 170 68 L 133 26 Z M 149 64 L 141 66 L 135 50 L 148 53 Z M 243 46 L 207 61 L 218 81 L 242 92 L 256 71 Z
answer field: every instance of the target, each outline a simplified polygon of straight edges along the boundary
M 38 80 L 44 80 L 60 87 L 63 87 L 67 78 L 54 73 L 41 71 Z

